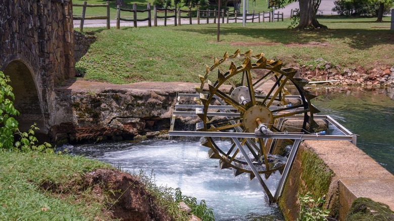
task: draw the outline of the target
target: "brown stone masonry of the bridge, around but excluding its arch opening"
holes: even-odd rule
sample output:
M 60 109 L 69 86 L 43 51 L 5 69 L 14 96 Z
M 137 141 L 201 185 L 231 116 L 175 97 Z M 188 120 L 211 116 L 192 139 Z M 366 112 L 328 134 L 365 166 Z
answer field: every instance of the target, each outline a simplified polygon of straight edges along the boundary
M 47 127 L 55 85 L 75 76 L 72 23 L 71 0 L 0 0 L 0 70 L 13 61 L 28 67 Z

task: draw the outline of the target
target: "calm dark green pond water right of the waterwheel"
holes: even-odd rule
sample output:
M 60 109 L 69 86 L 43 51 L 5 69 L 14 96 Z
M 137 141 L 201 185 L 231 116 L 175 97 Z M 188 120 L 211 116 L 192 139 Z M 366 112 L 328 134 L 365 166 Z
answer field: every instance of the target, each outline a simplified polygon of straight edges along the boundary
M 394 174 L 394 88 L 308 88 L 312 103 L 352 133 L 357 146 Z

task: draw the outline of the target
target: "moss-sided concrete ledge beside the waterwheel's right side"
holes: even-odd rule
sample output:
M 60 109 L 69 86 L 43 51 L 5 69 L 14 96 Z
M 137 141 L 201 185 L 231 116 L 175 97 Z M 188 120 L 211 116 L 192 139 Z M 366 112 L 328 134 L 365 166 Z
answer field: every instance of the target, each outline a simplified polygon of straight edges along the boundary
M 371 198 L 394 210 L 394 176 L 348 141 L 308 140 L 300 144 L 279 201 L 287 220 L 298 216 L 297 195 L 308 191 L 316 198 L 326 195 L 330 215 L 339 220 L 344 220 L 359 197 Z

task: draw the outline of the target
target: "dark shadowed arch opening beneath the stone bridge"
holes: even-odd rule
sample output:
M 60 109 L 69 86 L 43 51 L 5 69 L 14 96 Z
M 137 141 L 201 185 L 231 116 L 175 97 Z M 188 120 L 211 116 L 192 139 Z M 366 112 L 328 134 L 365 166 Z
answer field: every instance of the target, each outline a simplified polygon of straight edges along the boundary
M 44 106 L 42 105 L 41 91 L 37 87 L 37 79 L 29 62 L 20 56 L 6 64 L 3 70 L 5 75 L 10 76 L 10 85 L 15 95 L 14 106 L 20 112 L 16 117 L 19 129 L 27 131 L 34 123 L 40 129 L 39 132 L 46 133 Z

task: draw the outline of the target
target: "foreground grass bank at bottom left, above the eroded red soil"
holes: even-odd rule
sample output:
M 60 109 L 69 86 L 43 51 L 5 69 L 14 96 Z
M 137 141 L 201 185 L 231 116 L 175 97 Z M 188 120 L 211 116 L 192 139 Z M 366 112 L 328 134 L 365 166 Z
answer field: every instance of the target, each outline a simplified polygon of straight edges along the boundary
M 0 220 L 92 220 L 102 217 L 103 203 L 85 190 L 52 194 L 40 185 L 65 187 L 71 180 L 108 164 L 80 156 L 0 152 Z M 77 188 L 77 187 L 75 187 Z M 72 190 L 72 189 L 71 189 Z

